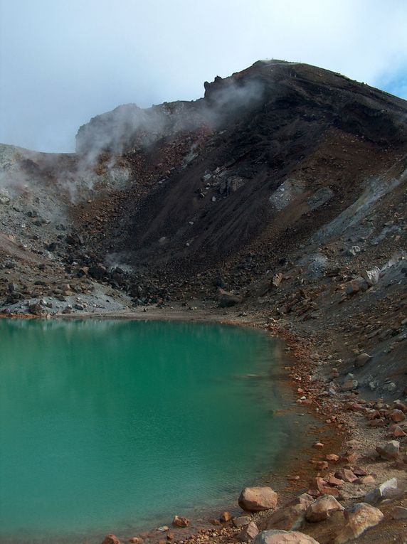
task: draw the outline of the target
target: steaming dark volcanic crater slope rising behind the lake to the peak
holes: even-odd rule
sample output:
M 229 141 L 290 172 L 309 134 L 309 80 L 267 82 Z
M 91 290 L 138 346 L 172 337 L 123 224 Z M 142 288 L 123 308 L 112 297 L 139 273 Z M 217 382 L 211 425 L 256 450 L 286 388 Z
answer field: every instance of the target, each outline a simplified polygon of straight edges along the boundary
M 2 146 L 3 308 L 211 307 L 222 287 L 229 312 L 319 335 L 339 381 L 369 351 L 358 387 L 401 397 L 406 120 L 401 99 L 273 61 L 95 117 L 76 154 Z

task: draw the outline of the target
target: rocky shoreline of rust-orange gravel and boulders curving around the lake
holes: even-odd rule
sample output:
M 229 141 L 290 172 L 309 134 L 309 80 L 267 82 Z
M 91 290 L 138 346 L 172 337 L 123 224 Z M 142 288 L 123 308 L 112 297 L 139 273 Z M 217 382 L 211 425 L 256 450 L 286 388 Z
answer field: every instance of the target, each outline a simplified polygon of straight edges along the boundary
M 66 315 L 60 317 L 67 319 Z M 73 317 L 83 319 L 78 314 L 69 316 Z M 310 425 L 315 437 L 312 447 L 298 451 L 296 459 L 291 456 L 290 462 L 283 463 L 280 475 L 267 482 L 271 487 L 253 488 L 255 499 L 251 502 L 245 500 L 244 493 L 239 501 L 236 498 L 242 508 L 240 514 L 225 511 L 219 512 L 218 518 L 191 522 L 176 514 L 171 526 L 131 537 L 123 537 L 118 530 L 121 538 L 107 535 L 104 544 L 228 544 L 249 540 L 253 544 L 342 544 L 356 538 L 360 543 L 406 541 L 407 406 L 403 402 L 363 400 L 346 387 L 329 395 L 315 353 L 325 357 L 332 353 L 322 351 L 318 343 L 300 338 L 277 321 L 265 319 L 258 311 L 239 317 L 230 311 L 225 314 L 150 307 L 147 312 L 139 309 L 97 315 L 100 318 L 213 321 L 264 329 L 284 340 L 285 383 L 295 395 L 297 407 L 317 422 Z M 282 476 L 282 472 L 287 474 Z M 250 492 L 246 494 L 250 496 Z

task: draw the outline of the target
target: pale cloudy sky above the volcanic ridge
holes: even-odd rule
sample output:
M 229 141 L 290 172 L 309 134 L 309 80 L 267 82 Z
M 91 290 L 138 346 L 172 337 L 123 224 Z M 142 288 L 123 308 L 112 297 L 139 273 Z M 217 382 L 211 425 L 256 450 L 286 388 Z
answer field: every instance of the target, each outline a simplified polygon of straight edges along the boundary
M 266 58 L 407 98 L 406 29 L 407 0 L 0 0 L 0 142 L 73 151 L 96 114 Z

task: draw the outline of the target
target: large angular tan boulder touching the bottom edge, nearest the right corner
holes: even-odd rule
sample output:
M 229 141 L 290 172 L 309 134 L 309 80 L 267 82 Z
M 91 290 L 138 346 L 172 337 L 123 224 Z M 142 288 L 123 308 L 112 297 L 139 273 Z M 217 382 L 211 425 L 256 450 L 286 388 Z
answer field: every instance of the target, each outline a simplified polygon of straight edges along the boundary
M 356 503 L 350 510 L 344 512 L 345 526 L 337 535 L 333 544 L 345 544 L 359 538 L 365 530 L 378 525 L 384 518 L 379 508 L 370 504 Z

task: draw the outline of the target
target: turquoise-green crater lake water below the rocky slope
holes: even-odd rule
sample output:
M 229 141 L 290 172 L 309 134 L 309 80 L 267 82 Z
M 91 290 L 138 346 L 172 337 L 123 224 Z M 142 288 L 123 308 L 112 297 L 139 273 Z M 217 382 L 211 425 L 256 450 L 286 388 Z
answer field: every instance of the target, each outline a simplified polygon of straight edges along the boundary
M 0 538 L 120 533 L 230 503 L 287 432 L 260 331 L 0 319 L 0 341 Z

